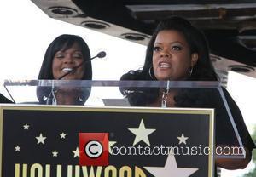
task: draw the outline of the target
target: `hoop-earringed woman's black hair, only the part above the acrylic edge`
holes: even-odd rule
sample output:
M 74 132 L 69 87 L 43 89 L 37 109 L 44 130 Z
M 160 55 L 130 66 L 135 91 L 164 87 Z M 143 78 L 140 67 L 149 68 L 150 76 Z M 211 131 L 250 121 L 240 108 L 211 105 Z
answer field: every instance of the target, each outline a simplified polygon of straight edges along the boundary
M 135 74 L 135 76 L 139 78 L 137 80 L 156 80 L 153 70 L 151 70 L 151 76 L 149 75 L 149 69 L 153 66 L 152 57 L 154 50 L 154 41 L 158 33 L 164 30 L 175 30 L 181 32 L 185 37 L 187 43 L 189 43 L 190 54 L 198 54 L 198 60 L 193 68 L 191 76 L 188 77 L 188 80 L 217 81 L 217 75 L 210 60 L 206 37 L 200 30 L 192 26 L 188 20 L 177 16 L 162 20 L 156 27 L 148 43 L 143 69 L 133 72 L 133 74 Z M 130 77 L 134 78 L 134 76 L 131 76 L 131 73 L 128 72 L 121 77 L 121 80 L 131 80 Z

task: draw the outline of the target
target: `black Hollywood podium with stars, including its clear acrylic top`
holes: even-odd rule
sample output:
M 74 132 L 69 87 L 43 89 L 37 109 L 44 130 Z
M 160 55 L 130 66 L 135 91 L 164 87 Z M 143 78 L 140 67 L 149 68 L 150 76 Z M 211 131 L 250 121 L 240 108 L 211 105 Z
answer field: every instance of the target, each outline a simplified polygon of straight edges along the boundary
M 0 110 L 4 177 L 210 177 L 215 158 L 245 157 L 216 151 L 216 145 L 243 148 L 216 82 L 41 80 L 6 81 L 5 87 L 16 104 Z M 152 104 L 162 90 L 175 93 L 183 107 Z M 77 100 L 61 102 L 60 93 Z M 70 100 L 73 105 L 63 105 Z M 222 123 L 224 134 L 217 132 Z M 79 166 L 86 153 L 79 133 L 108 134 L 108 165 Z

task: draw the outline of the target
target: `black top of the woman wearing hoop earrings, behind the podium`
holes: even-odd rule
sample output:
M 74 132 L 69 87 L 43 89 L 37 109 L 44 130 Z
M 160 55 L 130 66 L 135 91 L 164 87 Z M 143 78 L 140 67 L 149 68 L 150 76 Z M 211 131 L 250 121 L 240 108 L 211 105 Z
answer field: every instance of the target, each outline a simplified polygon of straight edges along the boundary
M 131 106 L 147 106 L 154 103 L 161 96 L 159 88 L 120 88 L 120 90 L 128 98 Z M 216 145 L 239 146 L 228 114 L 230 110 L 243 146 L 252 151 L 256 146 L 251 135 L 248 133 L 241 111 L 228 91 L 225 88 L 222 88 L 222 90 L 227 101 L 227 107 L 225 107 L 222 96 L 217 88 L 179 88 L 177 95 L 174 97 L 175 106 L 214 108 Z

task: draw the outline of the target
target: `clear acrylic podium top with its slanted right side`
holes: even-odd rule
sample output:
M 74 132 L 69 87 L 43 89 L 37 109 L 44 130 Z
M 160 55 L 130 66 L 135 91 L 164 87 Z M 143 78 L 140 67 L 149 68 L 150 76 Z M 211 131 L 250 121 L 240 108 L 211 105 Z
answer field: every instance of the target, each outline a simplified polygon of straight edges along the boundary
M 5 81 L 4 87 L 18 104 L 214 108 L 216 144 L 243 149 L 218 82 L 26 80 Z M 174 102 L 168 102 L 170 95 Z M 243 158 L 245 151 L 227 157 Z

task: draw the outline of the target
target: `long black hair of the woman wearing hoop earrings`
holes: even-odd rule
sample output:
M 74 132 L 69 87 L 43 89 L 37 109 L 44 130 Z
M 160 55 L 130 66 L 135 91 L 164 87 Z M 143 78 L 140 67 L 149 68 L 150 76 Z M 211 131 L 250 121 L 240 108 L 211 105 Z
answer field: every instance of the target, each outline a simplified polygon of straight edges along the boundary
M 148 43 L 143 69 L 129 71 L 121 77 L 121 80 L 157 80 L 156 77 L 154 77 L 154 70 L 152 69 L 154 42 L 158 33 L 165 30 L 181 32 L 189 44 L 190 54 L 198 54 L 198 60 L 193 67 L 193 72 L 187 80 L 218 80 L 210 60 L 206 37 L 200 30 L 195 28 L 195 26 L 192 26 L 188 20 L 177 16 L 160 21 Z M 139 90 L 120 88 L 120 91 L 128 97 L 128 100 L 133 106 L 145 106 L 147 103 L 152 103 L 160 94 L 157 88 L 139 88 Z M 180 102 L 177 98 L 175 100 Z

